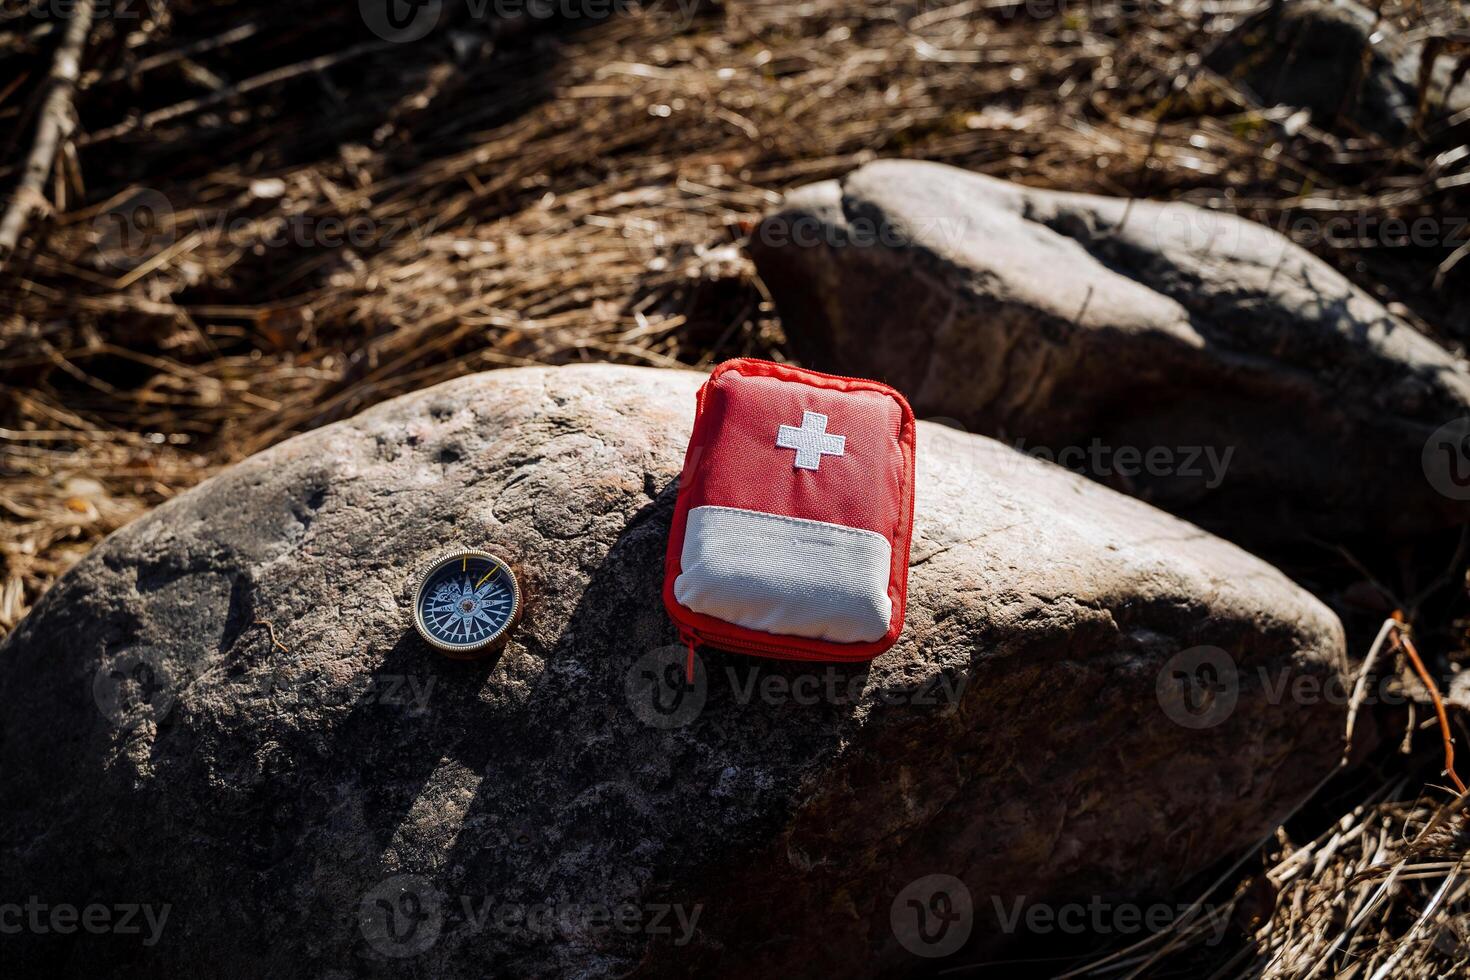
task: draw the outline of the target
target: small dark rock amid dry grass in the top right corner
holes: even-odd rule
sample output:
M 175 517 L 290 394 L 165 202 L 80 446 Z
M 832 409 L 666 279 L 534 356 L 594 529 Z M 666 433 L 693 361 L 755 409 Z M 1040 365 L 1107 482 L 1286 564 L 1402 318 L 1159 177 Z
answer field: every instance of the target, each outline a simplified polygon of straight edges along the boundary
M 1311 110 L 1332 128 L 1339 113 L 1361 129 L 1401 141 L 1419 112 L 1423 41 L 1408 41 L 1351 0 L 1292 0 L 1254 16 L 1210 57 L 1267 106 Z M 1470 84 L 1452 54 L 1433 59 L 1426 120 L 1470 106 Z

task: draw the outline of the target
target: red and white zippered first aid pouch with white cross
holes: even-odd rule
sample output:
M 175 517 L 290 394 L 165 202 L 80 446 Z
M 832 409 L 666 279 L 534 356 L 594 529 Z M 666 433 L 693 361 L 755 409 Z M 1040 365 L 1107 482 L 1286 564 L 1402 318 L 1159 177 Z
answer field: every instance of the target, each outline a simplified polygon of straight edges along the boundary
M 695 644 L 866 661 L 904 627 L 914 416 L 888 385 L 739 359 L 700 388 L 663 602 Z

